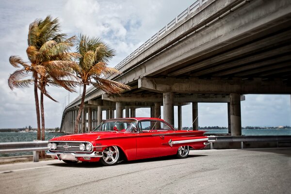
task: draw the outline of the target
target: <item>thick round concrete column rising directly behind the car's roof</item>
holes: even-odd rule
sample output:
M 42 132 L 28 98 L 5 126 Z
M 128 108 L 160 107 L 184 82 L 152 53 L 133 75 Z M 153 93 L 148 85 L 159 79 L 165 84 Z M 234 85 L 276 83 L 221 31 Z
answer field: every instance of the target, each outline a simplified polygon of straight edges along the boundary
M 163 97 L 163 119 L 174 127 L 174 93 L 165 92 Z

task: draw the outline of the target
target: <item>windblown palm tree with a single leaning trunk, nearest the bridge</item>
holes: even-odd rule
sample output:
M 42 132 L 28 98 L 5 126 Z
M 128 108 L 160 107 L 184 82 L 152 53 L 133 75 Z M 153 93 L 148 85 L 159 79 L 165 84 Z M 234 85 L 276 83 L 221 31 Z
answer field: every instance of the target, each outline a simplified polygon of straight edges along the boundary
M 120 74 L 114 68 L 107 67 L 107 63 L 114 56 L 115 51 L 110 49 L 98 38 L 90 38 L 80 35 L 76 43 L 77 52 L 80 54 L 79 66 L 75 69 L 77 77 L 81 79 L 83 92 L 81 96 L 81 104 L 75 122 L 75 133 L 78 133 L 78 125 L 80 122 L 81 112 L 84 106 L 86 94 L 86 86 L 92 84 L 94 87 L 103 90 L 108 94 L 120 94 L 124 90 L 130 89 L 128 85 L 117 81 L 106 80 L 103 76 L 112 74 Z

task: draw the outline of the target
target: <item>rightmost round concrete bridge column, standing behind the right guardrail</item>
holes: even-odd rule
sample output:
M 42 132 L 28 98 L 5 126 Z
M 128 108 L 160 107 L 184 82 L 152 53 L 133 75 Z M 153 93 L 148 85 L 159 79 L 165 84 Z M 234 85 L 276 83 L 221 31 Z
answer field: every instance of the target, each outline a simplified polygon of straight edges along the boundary
M 230 125 L 231 135 L 242 135 L 242 119 L 241 119 L 241 95 L 230 94 Z

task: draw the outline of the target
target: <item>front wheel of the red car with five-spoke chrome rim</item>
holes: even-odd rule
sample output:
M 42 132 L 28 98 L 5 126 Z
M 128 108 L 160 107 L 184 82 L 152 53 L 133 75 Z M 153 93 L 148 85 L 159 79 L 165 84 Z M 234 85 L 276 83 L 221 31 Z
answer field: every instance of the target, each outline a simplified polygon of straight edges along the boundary
M 102 158 L 100 161 L 106 166 L 114 165 L 119 161 L 119 157 L 118 147 L 109 146 L 102 151 Z

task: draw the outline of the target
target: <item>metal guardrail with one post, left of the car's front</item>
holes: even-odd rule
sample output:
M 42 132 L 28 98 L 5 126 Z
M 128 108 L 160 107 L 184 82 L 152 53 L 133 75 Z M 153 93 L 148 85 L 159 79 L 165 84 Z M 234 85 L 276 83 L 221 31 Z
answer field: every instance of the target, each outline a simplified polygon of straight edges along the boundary
M 33 162 L 38 162 L 39 151 L 48 150 L 48 141 L 0 143 L 0 153 L 33 151 Z

